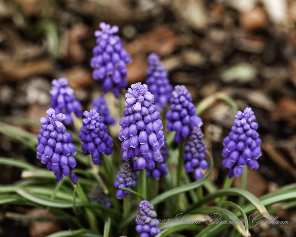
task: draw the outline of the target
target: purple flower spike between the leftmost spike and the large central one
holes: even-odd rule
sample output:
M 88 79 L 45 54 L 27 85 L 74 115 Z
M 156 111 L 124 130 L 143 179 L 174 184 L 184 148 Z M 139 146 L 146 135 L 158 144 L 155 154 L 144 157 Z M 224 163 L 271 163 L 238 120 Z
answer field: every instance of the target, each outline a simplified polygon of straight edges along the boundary
M 84 111 L 82 126 L 78 137 L 83 142 L 81 148 L 84 155 L 91 154 L 94 164 L 100 164 L 100 153 L 112 154 L 113 139 L 108 134 L 107 126 L 102 123 L 99 113 L 92 109 Z

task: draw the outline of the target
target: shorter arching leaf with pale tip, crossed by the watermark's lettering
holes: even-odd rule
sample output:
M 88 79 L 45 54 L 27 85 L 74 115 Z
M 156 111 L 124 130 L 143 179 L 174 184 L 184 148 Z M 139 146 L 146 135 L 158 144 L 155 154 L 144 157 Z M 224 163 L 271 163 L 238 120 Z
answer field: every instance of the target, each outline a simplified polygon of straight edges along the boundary
M 216 207 L 216 206 L 207 206 L 207 207 L 199 207 L 194 209 L 195 213 L 198 214 L 212 214 L 209 216 L 209 220 L 213 220 L 213 223 L 211 225 L 216 225 L 218 223 L 222 223 L 223 225 L 226 225 L 227 223 L 233 223 L 231 224 L 242 236 L 247 237 L 246 235 L 246 228 L 244 224 L 241 223 L 240 219 L 231 211 L 222 208 L 222 207 Z M 216 214 L 219 214 L 216 216 Z M 222 221 L 221 218 L 225 218 L 226 221 Z M 208 222 L 207 222 L 208 224 Z M 210 224 L 209 224 L 210 225 Z

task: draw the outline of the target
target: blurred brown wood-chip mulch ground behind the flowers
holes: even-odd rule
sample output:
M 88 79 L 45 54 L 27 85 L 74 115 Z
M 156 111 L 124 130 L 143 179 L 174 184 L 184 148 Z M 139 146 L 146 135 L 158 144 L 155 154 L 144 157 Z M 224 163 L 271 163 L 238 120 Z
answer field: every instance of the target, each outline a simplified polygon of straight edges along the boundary
M 185 84 L 196 104 L 223 92 L 240 110 L 252 107 L 263 156 L 259 170 L 249 172 L 249 191 L 259 197 L 296 182 L 295 0 L 0 0 L 0 119 L 38 121 L 49 108 L 51 80 L 60 77 L 68 78 L 88 109 L 100 94 L 89 61 L 102 21 L 119 26 L 133 58 L 129 83 L 145 80 L 147 56 L 155 52 L 171 83 Z M 115 99 L 107 98 L 119 119 Z M 221 186 L 222 139 L 234 112 L 217 101 L 201 118 L 215 158 L 211 180 Z M 110 129 L 116 138 L 118 125 Z M 2 134 L 0 156 L 42 165 L 31 150 Z M 0 184 L 15 182 L 20 172 L 0 165 Z M 239 179 L 234 186 L 240 187 Z M 7 221 L 4 210 L 0 207 L 0 236 L 42 237 L 61 229 L 57 223 Z M 296 236 L 296 211 L 278 215 L 289 225 L 258 225 L 252 235 Z

